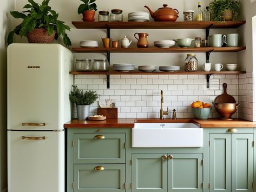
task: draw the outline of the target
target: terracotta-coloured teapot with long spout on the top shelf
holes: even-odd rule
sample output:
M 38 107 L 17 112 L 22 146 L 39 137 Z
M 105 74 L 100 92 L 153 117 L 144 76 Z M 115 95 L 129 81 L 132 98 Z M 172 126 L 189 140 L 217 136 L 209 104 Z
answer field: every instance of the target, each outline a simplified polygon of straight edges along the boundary
M 177 9 L 167 8 L 167 4 L 163 4 L 163 8 L 159 8 L 153 12 L 147 5 L 144 7 L 148 9 L 154 21 L 176 21 L 179 17 L 179 11 Z

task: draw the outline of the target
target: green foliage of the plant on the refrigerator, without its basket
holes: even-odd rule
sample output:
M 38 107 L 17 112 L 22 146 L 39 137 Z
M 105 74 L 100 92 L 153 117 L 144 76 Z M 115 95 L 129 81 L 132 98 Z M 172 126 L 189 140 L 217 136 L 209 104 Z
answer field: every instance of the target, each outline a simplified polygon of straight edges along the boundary
M 48 5 L 49 1 L 44 0 L 40 5 L 33 0 L 28 0 L 30 4 L 26 4 L 23 7 L 23 9 L 28 10 L 22 12 L 10 11 L 10 14 L 14 18 L 22 18 L 23 21 L 9 33 L 7 39 L 8 44 L 13 43 L 14 34 L 22 37 L 27 36 L 27 32 L 31 32 L 34 29 L 46 29 L 49 36 L 56 31 L 55 39 L 63 36 L 63 42 L 66 47 L 71 45 L 70 39 L 65 33 L 65 30 L 70 30 L 70 27 L 65 25 L 64 22 L 57 20 L 58 14 L 56 11 L 51 10 L 51 7 Z

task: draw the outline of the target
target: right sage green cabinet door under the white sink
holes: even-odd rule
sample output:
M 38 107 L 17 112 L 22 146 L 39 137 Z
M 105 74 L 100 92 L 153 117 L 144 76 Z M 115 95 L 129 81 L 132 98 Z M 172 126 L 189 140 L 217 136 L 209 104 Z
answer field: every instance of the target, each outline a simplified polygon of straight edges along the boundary
M 202 154 L 168 154 L 168 191 L 202 191 Z

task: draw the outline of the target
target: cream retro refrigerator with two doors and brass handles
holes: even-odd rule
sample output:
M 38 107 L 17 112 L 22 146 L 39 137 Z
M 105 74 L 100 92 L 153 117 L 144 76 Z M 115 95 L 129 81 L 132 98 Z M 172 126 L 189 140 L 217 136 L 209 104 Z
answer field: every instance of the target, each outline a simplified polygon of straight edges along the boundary
M 73 54 L 60 44 L 11 44 L 7 52 L 8 191 L 64 192 Z

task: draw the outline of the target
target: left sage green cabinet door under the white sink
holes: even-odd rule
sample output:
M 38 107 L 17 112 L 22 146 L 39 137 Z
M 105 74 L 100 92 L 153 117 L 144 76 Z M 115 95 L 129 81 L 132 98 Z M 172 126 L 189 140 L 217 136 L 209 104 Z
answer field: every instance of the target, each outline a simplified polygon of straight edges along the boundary
M 132 191 L 167 192 L 167 154 L 132 154 Z

